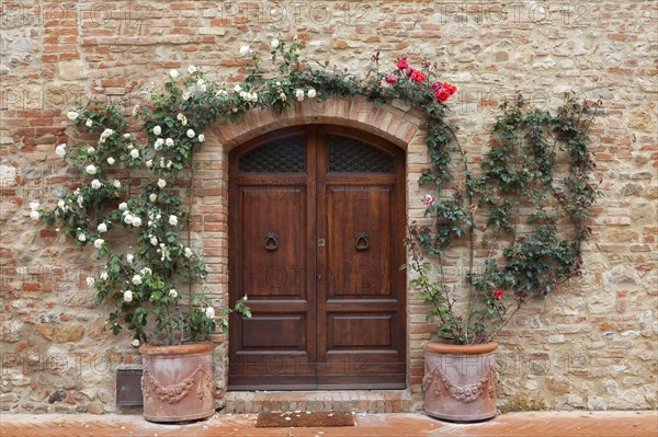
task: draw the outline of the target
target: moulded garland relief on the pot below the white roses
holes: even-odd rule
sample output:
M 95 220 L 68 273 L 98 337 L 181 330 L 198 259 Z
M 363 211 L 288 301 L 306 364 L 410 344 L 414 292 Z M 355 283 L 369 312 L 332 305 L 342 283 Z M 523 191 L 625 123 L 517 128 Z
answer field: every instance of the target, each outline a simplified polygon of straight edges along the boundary
M 155 395 L 161 402 L 174 404 L 190 393 L 194 387 L 194 381 L 197 378 L 196 398 L 200 400 L 211 398 L 215 388 L 215 382 L 213 381 L 212 375 L 208 375 L 201 365 L 198 365 L 188 378 L 169 387 L 163 387 L 148 370 L 145 370 L 141 376 L 141 394 L 144 395 L 144 399 Z

